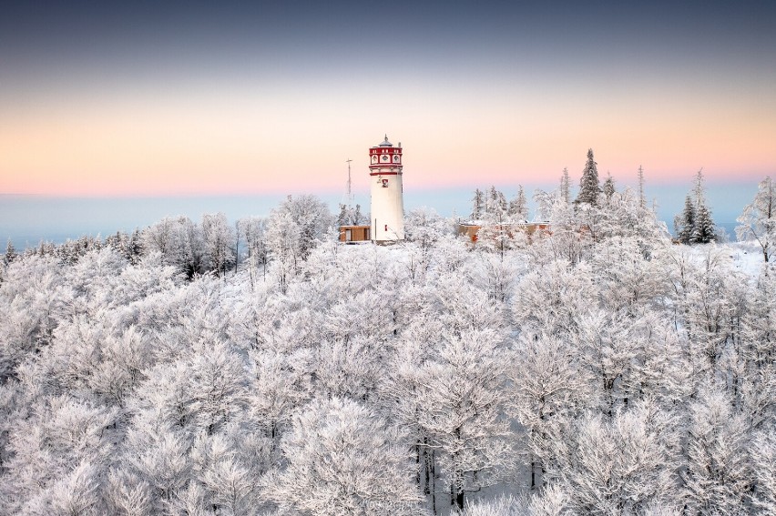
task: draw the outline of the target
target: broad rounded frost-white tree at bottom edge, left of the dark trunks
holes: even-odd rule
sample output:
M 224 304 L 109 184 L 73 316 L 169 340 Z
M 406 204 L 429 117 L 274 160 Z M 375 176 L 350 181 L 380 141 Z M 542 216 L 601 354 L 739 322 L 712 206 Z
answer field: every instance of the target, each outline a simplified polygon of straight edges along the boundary
M 402 432 L 352 400 L 313 400 L 283 437 L 267 496 L 299 514 L 423 514 Z

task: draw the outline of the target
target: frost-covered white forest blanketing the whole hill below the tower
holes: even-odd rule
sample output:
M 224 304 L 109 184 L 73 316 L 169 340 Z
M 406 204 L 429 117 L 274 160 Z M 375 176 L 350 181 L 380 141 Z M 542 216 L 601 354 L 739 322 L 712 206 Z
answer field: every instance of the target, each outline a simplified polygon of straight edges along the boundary
M 776 513 L 773 214 L 676 245 L 593 193 L 475 245 L 420 209 L 344 246 L 302 196 L 10 248 L 0 512 Z

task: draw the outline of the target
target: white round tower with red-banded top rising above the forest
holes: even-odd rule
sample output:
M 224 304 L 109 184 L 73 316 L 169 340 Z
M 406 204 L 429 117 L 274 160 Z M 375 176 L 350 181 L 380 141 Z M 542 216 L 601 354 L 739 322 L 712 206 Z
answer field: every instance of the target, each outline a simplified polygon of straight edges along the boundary
M 393 147 L 385 140 L 369 149 L 369 178 L 372 180 L 372 239 L 395 242 L 404 239 L 402 187 L 402 144 Z

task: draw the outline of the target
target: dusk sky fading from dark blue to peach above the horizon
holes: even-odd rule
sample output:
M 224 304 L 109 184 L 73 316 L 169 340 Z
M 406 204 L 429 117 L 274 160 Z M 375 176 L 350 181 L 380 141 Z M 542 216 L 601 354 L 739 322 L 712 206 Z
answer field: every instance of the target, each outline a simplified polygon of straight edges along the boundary
M 588 148 L 619 186 L 753 193 L 773 85 L 772 1 L 11 2 L 0 194 L 331 197 L 347 159 L 366 192 L 385 134 L 432 207 Z

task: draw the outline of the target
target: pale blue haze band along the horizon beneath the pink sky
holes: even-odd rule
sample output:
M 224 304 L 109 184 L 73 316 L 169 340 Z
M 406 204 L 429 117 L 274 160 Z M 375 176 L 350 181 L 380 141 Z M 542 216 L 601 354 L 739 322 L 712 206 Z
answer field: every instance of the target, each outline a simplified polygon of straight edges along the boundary
M 412 180 L 407 181 L 412 183 Z M 618 187 L 623 187 L 618 183 Z M 477 187 L 485 189 L 488 184 Z M 507 197 L 516 194 L 516 185 L 497 185 Z M 554 189 L 555 185 L 526 185 L 531 197 L 537 187 Z M 707 189 L 712 215 L 718 223 L 731 223 L 740 215 L 757 190 L 756 183 L 714 185 Z M 659 218 L 672 229 L 673 216 L 683 207 L 689 181 L 683 189 L 648 186 L 646 193 L 651 204 L 658 201 Z M 444 217 L 463 217 L 471 212 L 473 188 L 405 189 L 405 209 L 431 207 Z M 312 192 L 315 193 L 315 192 Z M 273 207 L 285 196 L 209 196 L 209 197 L 46 197 L 0 196 L 0 238 L 3 244 L 10 238 L 16 248 L 35 246 L 40 240 L 63 242 L 82 235 L 106 237 L 117 230 L 131 232 L 145 228 L 164 217 L 185 215 L 199 220 L 205 213 L 223 212 L 232 222 L 248 216 L 267 217 Z M 321 195 L 336 213 L 342 195 Z M 365 189 L 355 191 L 354 203 L 369 211 L 369 194 Z M 533 206 L 532 211 L 533 215 Z M 732 236 L 734 225 L 727 229 Z M 2 250 L 2 249 L 0 249 Z

